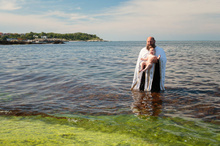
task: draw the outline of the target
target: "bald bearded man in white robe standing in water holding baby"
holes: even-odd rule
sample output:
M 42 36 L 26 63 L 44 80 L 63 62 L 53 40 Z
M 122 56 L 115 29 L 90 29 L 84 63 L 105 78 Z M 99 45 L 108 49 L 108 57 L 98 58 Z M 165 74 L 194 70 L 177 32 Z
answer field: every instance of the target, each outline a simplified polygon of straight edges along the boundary
M 164 50 L 155 45 L 156 41 L 154 37 L 147 38 L 146 47 L 144 47 L 138 56 L 134 79 L 131 86 L 131 90 L 139 90 L 139 91 L 160 91 L 165 90 L 164 81 L 165 81 L 165 71 L 166 71 L 166 54 Z M 140 72 L 140 64 L 141 58 L 146 58 L 149 54 L 149 47 L 155 47 L 156 56 L 161 56 L 159 61 L 155 62 L 150 70 L 146 72 Z

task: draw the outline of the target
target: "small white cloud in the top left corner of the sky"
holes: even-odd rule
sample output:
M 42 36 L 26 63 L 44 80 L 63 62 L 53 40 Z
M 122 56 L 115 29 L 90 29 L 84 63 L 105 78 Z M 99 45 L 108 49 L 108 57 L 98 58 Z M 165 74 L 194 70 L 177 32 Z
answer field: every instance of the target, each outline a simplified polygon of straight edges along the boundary
M 0 10 L 16 10 L 21 9 L 17 0 L 0 0 Z

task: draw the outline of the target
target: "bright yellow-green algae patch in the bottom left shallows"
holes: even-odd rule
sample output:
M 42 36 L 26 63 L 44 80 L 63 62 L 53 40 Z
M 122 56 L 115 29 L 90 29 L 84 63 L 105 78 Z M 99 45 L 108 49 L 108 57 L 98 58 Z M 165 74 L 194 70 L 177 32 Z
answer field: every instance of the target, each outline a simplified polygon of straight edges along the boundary
M 65 119 L 0 117 L 0 145 L 148 145 L 120 133 L 88 131 Z

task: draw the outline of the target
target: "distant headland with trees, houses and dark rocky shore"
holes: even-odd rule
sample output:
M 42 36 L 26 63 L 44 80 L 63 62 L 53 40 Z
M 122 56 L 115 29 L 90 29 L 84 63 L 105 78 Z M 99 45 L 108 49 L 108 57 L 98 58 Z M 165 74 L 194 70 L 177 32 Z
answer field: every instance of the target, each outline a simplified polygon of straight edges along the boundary
M 2 33 L 0 32 L 0 45 L 14 44 L 63 44 L 69 41 L 105 42 L 94 34 L 87 33 Z

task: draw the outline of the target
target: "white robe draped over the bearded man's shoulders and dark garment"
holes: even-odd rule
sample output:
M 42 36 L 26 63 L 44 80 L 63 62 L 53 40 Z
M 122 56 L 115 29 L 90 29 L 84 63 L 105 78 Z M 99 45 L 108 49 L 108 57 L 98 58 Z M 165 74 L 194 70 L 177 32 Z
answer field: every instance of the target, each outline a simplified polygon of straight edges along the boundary
M 165 71 L 166 71 L 166 62 L 167 62 L 166 54 L 164 50 L 160 47 L 156 47 L 155 51 L 156 51 L 155 53 L 156 56 L 161 55 L 160 60 L 159 60 L 160 61 L 160 90 L 165 90 L 164 82 L 165 82 Z M 149 51 L 146 49 L 146 47 L 144 47 L 139 53 L 136 68 L 134 71 L 134 78 L 133 78 L 133 82 L 131 85 L 131 90 L 139 90 L 140 88 L 141 77 L 143 73 L 143 72 L 139 73 L 139 70 L 141 69 L 141 62 L 142 62 L 141 58 L 146 58 L 148 54 L 149 54 Z M 155 71 L 155 64 L 153 64 L 150 70 L 146 70 L 144 91 L 151 91 L 154 71 Z

